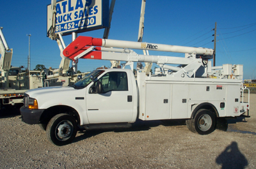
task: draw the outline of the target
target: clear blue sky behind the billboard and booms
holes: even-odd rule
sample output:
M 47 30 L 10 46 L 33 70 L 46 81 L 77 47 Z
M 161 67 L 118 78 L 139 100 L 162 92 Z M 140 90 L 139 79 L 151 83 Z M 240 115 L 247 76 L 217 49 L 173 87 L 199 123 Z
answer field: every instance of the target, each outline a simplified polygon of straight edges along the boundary
M 109 0 L 110 3 L 110 0 Z M 46 36 L 47 1 L 1 1 L 0 27 L 10 48 L 12 66 L 28 66 L 28 36 L 31 34 L 31 70 L 36 64 L 58 68 L 61 57 L 56 41 Z M 167 45 L 213 48 L 217 22 L 216 66 L 243 64 L 244 79 L 256 78 L 256 1 L 146 1 L 143 41 Z M 137 41 L 141 0 L 116 0 L 109 39 Z M 104 29 L 78 36 L 102 38 Z M 71 35 L 64 37 L 68 45 Z M 142 51 L 136 51 L 142 54 Z M 183 57 L 170 52 L 152 55 Z M 109 61 L 80 59 L 78 70 L 110 66 Z M 154 68 L 153 68 L 154 69 Z

